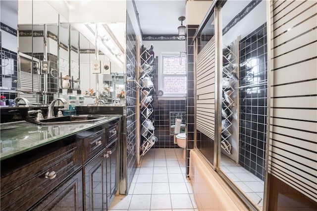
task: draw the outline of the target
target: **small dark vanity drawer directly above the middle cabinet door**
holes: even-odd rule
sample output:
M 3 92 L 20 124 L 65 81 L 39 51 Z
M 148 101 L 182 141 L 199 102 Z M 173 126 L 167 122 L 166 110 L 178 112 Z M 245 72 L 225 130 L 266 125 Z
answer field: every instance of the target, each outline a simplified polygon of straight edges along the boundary
M 89 136 L 83 141 L 83 163 L 97 155 L 106 146 L 106 129 L 100 131 L 85 131 Z

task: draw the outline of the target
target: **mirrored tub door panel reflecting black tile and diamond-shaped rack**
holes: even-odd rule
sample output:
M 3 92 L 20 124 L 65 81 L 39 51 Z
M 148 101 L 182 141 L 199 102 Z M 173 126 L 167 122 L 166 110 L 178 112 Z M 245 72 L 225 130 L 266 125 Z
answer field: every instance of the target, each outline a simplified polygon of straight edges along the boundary
M 220 170 L 245 191 L 256 207 L 254 210 L 262 210 L 264 197 L 267 93 L 265 3 L 226 1 L 221 9 L 223 100 Z

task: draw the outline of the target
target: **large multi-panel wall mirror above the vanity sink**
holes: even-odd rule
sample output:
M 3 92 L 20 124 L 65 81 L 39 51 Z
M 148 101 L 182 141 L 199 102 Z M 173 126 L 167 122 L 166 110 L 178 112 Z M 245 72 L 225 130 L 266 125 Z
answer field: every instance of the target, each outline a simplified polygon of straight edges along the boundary
M 74 6 L 80 7 L 76 3 Z M 13 7 L 16 8 L 15 11 L 8 9 Z M 104 14 L 103 19 L 109 19 L 109 23 L 94 23 L 93 20 L 95 18 L 98 20 L 99 17 L 90 15 L 92 18 L 89 20 L 90 23 L 83 24 L 69 23 L 68 19 L 60 15 L 55 8 L 65 16 L 70 16 L 63 10 L 64 6 L 53 1 L 1 0 L 1 23 L 12 22 L 2 18 L 2 14 L 11 19 L 15 17 L 16 23 L 12 28 L 17 29 L 14 36 L 14 30 L 8 28 L 12 31 L 12 39 L 5 40 L 7 37 L 2 36 L 1 40 L 2 50 L 7 43 L 14 46 L 13 49 L 8 48 L 7 53 L 2 51 L 3 56 L 1 55 L 1 63 L 8 63 L 7 70 L 3 71 L 2 68 L 3 74 L 1 72 L 2 95 L 7 96 L 7 99 L 24 97 L 31 104 L 49 104 L 53 98 L 62 94 L 60 90 L 62 75 L 69 75 L 71 77 L 69 88 L 74 90 L 76 85 L 75 91 L 78 89 L 82 94 L 91 88 L 99 97 L 100 91 L 110 84 L 119 87 L 117 90 L 124 90 L 125 10 L 124 13 L 122 10 L 121 16 L 115 18 L 113 15 Z M 11 14 L 12 12 L 15 13 Z M 80 20 L 78 22 L 82 21 L 76 14 L 72 14 L 72 17 L 73 21 L 77 19 Z M 116 18 L 121 22 L 117 23 Z M 99 33 L 98 57 L 102 67 L 105 66 L 104 64 L 109 67 L 105 72 L 102 69 L 101 74 L 91 72 L 91 62 L 96 59 L 96 25 Z M 16 45 L 11 45 L 14 39 Z M 16 52 L 16 55 L 10 52 Z M 41 68 L 43 65 L 47 68 Z M 118 76 L 112 77 L 111 73 L 118 73 Z M 108 77 L 104 79 L 104 75 Z M 75 84 L 77 79 L 81 80 L 80 87 Z M 105 81 L 107 82 L 104 83 Z M 5 94 L 3 90 L 7 90 Z M 117 93 L 115 87 L 112 92 L 110 102 L 115 101 Z

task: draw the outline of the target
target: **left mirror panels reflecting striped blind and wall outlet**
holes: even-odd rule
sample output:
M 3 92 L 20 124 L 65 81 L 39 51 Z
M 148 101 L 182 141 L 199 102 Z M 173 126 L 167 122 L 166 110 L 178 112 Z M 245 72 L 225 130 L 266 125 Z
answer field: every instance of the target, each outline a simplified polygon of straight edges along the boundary
M 47 1 L 18 1 L 17 96 L 32 104 L 48 104 L 58 93 L 57 26 L 58 13 Z

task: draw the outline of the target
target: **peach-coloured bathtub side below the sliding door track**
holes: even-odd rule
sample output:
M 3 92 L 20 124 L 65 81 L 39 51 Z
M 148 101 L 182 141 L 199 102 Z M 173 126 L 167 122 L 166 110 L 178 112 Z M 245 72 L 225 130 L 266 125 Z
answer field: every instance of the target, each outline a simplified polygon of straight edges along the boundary
M 199 211 L 249 210 L 195 149 L 190 152 L 189 177 Z

